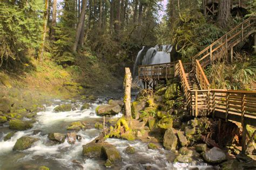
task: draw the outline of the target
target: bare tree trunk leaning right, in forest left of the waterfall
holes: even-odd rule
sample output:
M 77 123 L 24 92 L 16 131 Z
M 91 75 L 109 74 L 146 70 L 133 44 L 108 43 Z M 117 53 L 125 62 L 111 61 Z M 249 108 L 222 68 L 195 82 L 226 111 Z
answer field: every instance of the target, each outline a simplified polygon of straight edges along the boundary
M 78 24 L 77 24 L 77 29 L 76 29 L 76 40 L 75 40 L 75 43 L 72 47 L 73 52 L 75 52 L 77 50 L 78 40 L 79 40 L 79 37 L 80 37 L 80 34 L 81 34 L 82 27 L 84 25 L 86 6 L 87 6 L 87 0 L 83 0 L 82 1 L 82 11 L 81 11 L 79 21 L 78 21 Z

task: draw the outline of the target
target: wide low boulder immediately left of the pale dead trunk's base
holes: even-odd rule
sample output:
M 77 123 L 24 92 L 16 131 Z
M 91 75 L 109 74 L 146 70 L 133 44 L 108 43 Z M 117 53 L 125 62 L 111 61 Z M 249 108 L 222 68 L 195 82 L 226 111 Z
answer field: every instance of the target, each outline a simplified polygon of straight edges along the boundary
M 100 105 L 96 108 L 97 115 L 118 114 L 122 111 L 120 105 Z

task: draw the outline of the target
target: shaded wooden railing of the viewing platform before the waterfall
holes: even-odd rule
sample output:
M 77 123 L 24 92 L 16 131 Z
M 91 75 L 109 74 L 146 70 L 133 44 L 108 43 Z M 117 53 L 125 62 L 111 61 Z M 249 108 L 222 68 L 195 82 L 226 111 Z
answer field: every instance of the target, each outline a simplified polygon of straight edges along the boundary
M 174 77 L 173 63 L 141 65 L 139 66 L 139 78 L 149 77 L 151 79 L 169 79 Z

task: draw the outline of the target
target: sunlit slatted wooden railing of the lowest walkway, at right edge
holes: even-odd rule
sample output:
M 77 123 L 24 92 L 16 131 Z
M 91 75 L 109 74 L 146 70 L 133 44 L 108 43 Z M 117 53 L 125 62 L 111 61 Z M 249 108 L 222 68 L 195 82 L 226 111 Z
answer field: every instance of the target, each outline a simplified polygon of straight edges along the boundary
M 243 123 L 245 117 L 256 118 L 256 91 L 192 90 L 190 108 L 194 116 L 223 112 L 226 119 L 239 115 Z

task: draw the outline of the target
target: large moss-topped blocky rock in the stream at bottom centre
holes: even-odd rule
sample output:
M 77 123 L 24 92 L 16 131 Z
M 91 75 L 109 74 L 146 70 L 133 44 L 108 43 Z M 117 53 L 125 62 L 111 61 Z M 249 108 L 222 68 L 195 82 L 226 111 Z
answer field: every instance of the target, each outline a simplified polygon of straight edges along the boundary
M 105 142 L 83 145 L 83 155 L 88 158 L 108 159 L 111 162 L 120 161 L 122 159 L 116 147 Z

